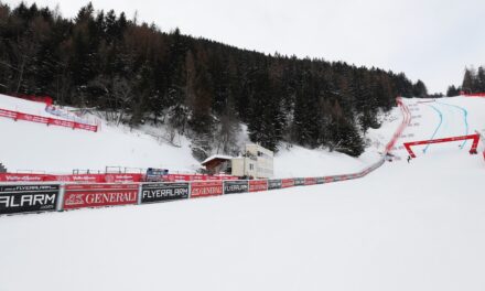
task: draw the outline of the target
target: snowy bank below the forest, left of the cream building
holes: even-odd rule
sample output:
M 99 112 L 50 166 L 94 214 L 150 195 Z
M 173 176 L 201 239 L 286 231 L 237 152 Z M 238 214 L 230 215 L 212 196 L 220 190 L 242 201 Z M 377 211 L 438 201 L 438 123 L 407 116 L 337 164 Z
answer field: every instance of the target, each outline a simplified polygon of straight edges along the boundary
M 0 96 L 0 108 L 53 117 L 44 110 L 43 104 L 3 95 Z M 12 172 L 104 171 L 107 165 L 194 171 L 200 166 L 192 158 L 186 140 L 176 148 L 142 131 L 130 131 L 127 127 L 112 127 L 106 122 L 99 132 L 90 132 L 0 118 L 0 132 L 9 141 L 0 143 L 0 161 Z

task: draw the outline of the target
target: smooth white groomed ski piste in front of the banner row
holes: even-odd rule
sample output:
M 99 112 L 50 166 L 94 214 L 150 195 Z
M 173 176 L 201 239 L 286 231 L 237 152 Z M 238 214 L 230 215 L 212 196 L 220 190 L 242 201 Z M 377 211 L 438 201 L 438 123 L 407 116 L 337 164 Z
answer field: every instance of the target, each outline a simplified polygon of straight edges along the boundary
M 485 129 L 485 100 L 440 101 Z M 431 105 L 441 126 L 411 106 L 398 146 L 465 133 L 462 110 Z M 0 217 L 0 290 L 484 290 L 485 162 L 467 147 L 418 147 L 410 163 L 398 147 L 348 182 Z

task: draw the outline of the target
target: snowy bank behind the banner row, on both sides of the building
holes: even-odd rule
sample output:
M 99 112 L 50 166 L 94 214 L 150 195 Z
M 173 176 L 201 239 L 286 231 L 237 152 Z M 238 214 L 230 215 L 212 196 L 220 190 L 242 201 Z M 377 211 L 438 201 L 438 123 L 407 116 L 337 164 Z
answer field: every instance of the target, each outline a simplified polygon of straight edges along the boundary
M 43 104 L 4 95 L 0 95 L 0 108 L 54 117 L 44 110 Z M 399 109 L 394 110 L 390 115 L 392 122 L 385 123 L 389 134 L 398 127 L 399 115 Z M 9 141 L 0 143 L 0 162 L 11 172 L 33 170 L 71 173 L 74 169 L 104 171 L 107 165 L 194 172 L 201 166 L 192 157 L 190 141 L 184 137 L 176 138 L 181 148 L 155 138 L 164 136 L 163 128 L 143 126 L 139 130 L 130 130 L 128 127 L 103 122 L 99 132 L 89 132 L 0 118 L 0 132 Z M 358 159 L 326 150 L 308 150 L 297 146 L 287 150 L 283 147 L 274 158 L 274 174 L 278 177 L 292 177 L 359 171 L 378 160 L 378 151 L 384 148 L 379 140 L 385 142 L 389 134 L 374 137 L 369 133 L 373 144 Z M 248 142 L 247 132 L 242 130 L 240 146 L 245 142 Z

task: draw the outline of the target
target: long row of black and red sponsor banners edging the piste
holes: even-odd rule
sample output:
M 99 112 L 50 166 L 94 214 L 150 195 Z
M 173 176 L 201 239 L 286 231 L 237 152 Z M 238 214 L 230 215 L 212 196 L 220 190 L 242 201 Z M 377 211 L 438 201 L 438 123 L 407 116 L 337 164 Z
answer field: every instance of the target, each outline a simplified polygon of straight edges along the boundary
M 384 163 L 355 174 L 272 180 L 164 183 L 83 183 L 0 185 L 0 215 L 161 203 L 187 198 L 308 186 L 362 177 Z

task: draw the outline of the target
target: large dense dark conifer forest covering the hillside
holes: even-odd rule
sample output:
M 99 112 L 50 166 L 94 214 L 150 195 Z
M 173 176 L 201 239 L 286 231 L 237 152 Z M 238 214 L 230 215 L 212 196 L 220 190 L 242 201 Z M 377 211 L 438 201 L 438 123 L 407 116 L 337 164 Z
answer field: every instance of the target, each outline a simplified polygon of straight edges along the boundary
M 172 139 L 188 137 L 197 159 L 237 152 L 240 123 L 271 150 L 288 142 L 358 157 L 397 96 L 427 96 L 402 73 L 240 50 L 91 3 L 66 19 L 0 2 L 0 67 L 1 93 L 50 95 L 132 127 L 163 125 Z

